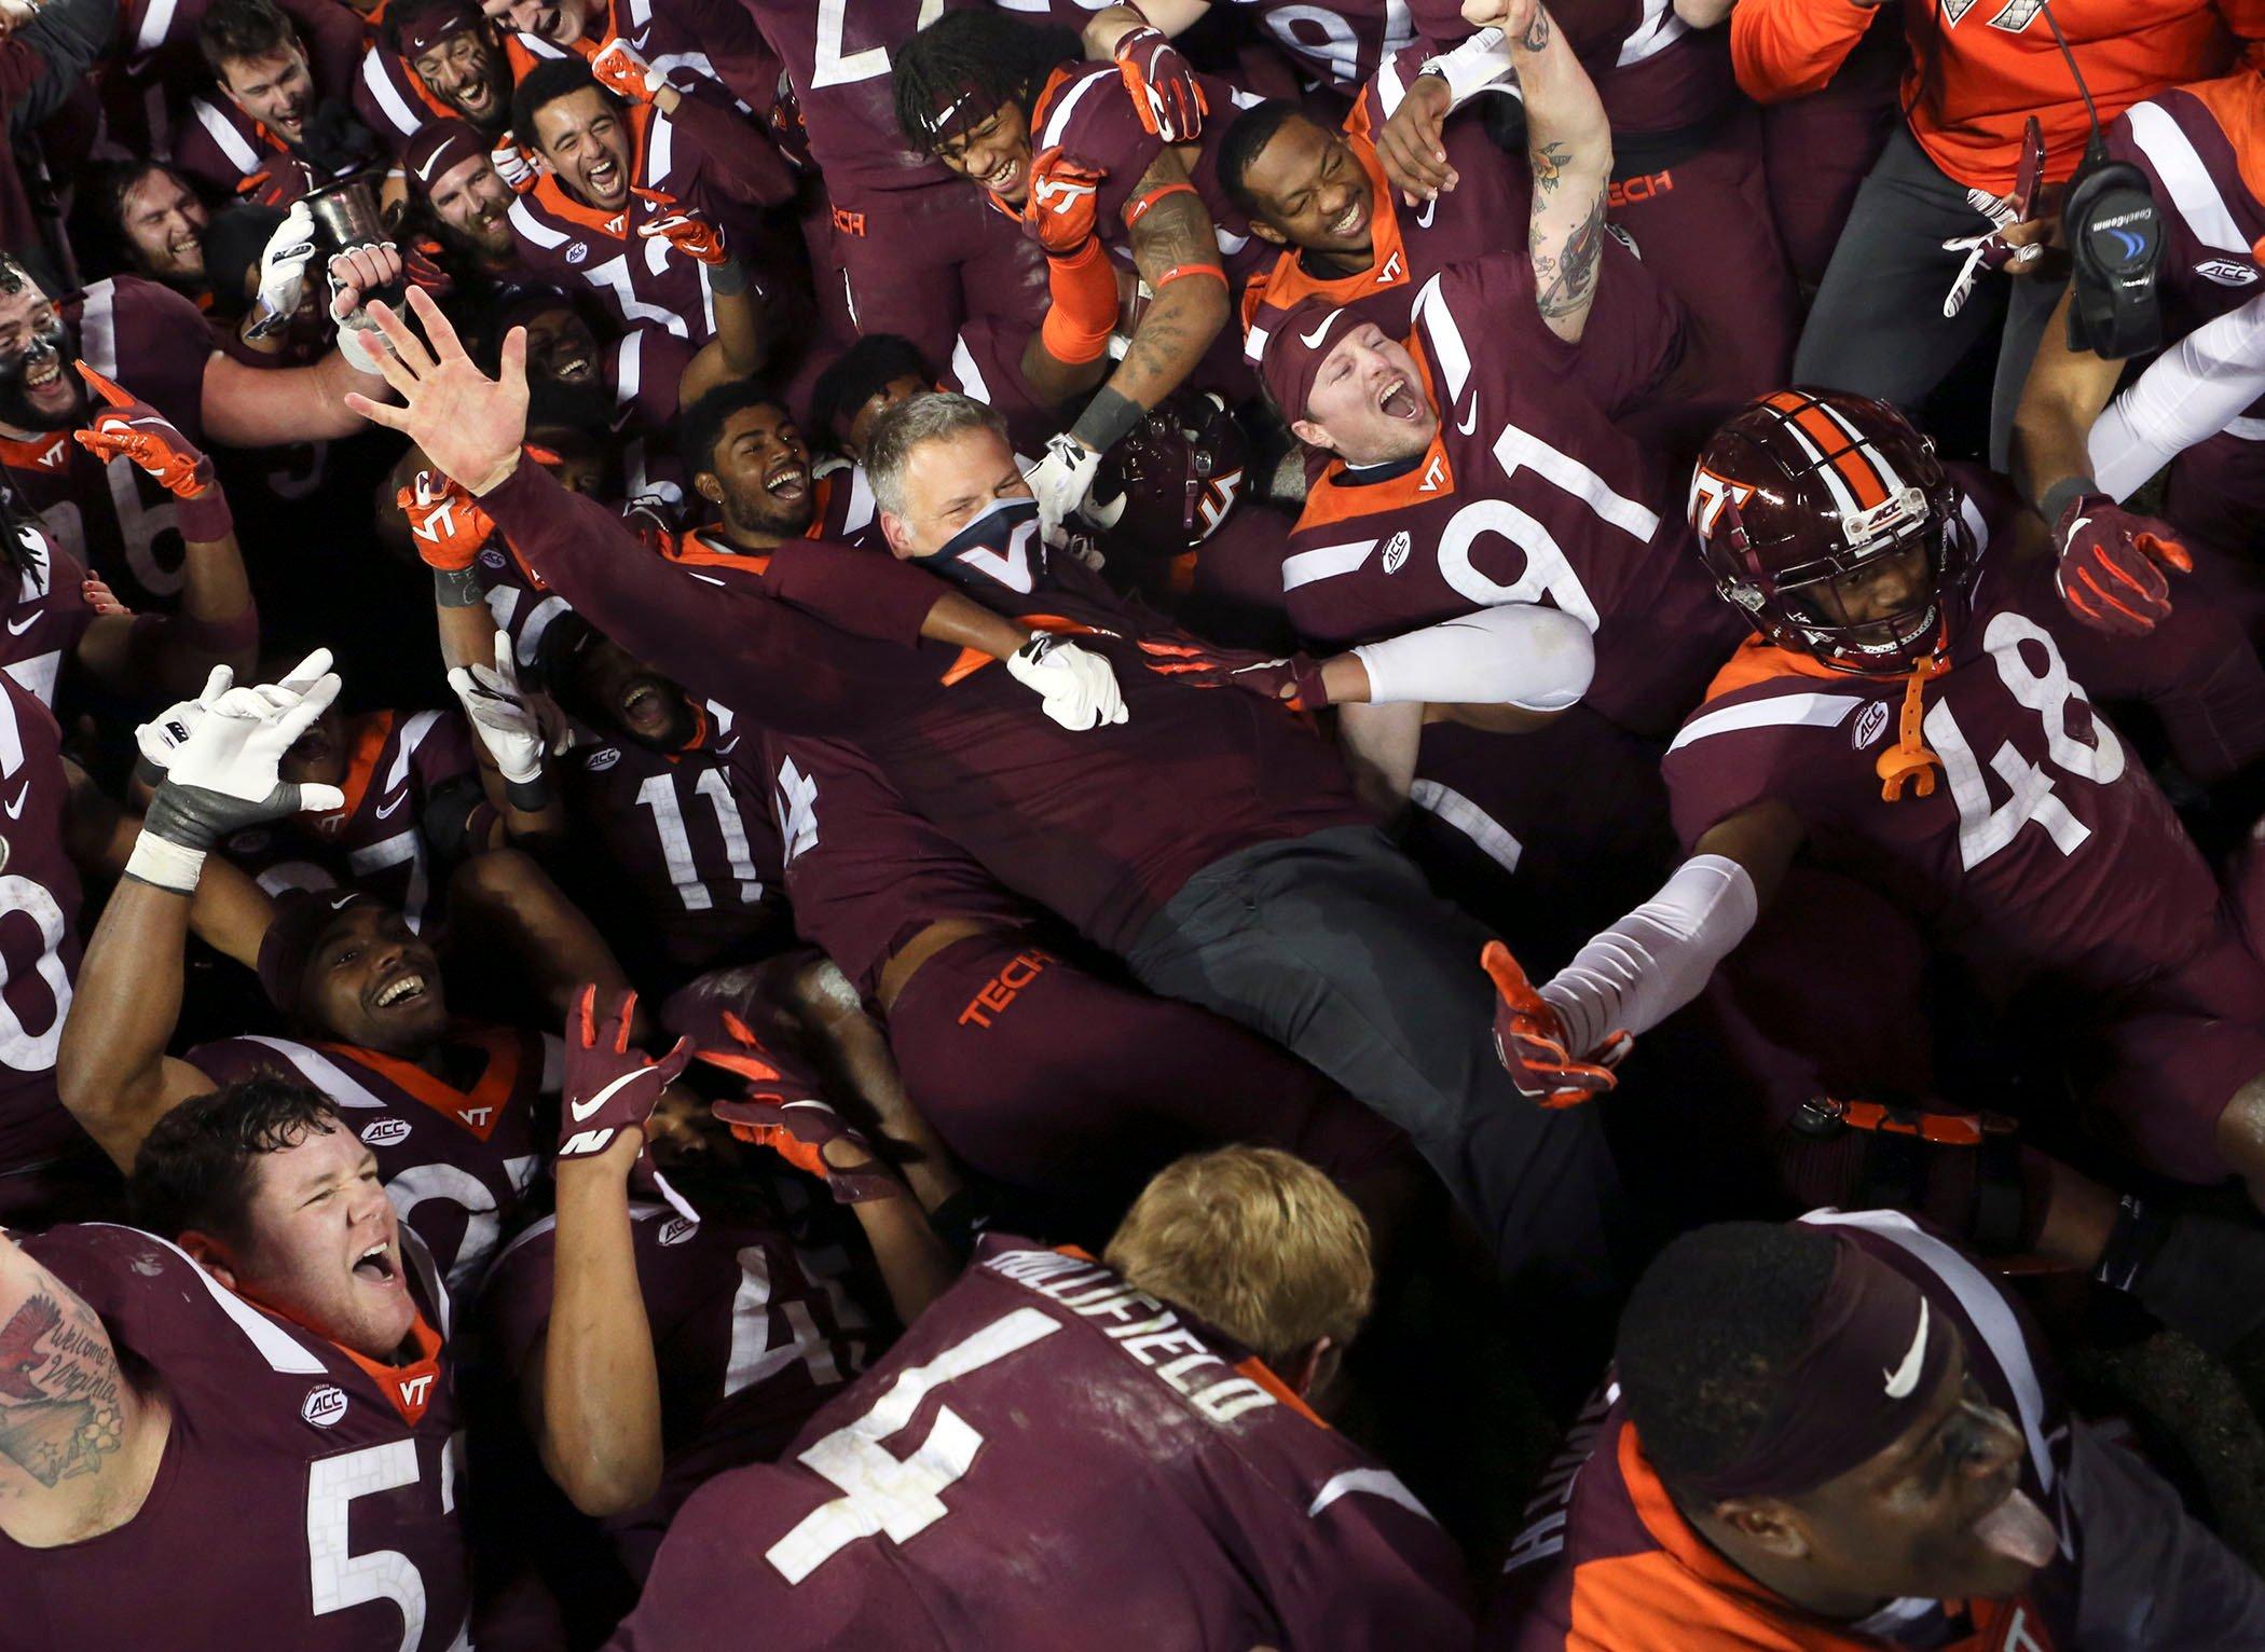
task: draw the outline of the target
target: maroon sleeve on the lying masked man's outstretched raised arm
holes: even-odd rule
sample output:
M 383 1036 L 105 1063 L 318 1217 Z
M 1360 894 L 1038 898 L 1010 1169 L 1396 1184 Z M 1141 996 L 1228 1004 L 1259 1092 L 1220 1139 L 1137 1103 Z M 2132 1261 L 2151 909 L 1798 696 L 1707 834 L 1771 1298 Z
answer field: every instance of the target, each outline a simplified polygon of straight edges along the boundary
M 521 464 L 480 496 L 480 509 L 621 647 L 781 733 L 854 733 L 933 688 L 915 649 L 852 636 L 752 586 L 655 557 L 614 511 L 569 493 L 539 464 Z M 895 570 L 877 561 L 877 573 Z

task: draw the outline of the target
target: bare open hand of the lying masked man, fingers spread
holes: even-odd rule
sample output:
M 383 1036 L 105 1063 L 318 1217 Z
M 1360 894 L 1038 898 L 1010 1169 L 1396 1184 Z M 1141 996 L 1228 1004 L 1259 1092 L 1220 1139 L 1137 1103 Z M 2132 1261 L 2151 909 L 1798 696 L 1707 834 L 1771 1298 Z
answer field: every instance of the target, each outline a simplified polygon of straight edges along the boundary
M 349 394 L 347 407 L 410 437 L 467 493 L 487 493 L 519 468 L 519 444 L 528 434 L 528 330 L 510 330 L 498 376 L 489 378 L 464 353 L 433 294 L 410 287 L 408 308 L 424 337 L 390 303 L 369 306 L 369 319 L 392 346 L 378 371 L 401 405 Z

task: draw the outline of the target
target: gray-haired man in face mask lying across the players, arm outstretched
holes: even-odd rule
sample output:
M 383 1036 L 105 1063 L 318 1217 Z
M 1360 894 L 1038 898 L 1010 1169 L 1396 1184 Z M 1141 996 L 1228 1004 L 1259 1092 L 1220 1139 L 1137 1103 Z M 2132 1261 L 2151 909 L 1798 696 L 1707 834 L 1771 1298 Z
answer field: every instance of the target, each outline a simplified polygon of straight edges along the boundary
M 1511 1055 L 1531 1059 L 1515 1073 L 1495 1059 L 1495 998 L 1472 969 L 1488 937 L 1422 887 L 1375 833 L 1334 756 L 1282 711 L 1300 688 L 1327 686 L 1311 683 L 1327 677 L 1311 661 L 1243 670 L 1257 661 L 1200 656 L 1185 634 L 1169 634 L 1173 663 L 1219 686 L 1259 690 L 1219 695 L 1187 677 L 1137 670 L 1155 656 L 1123 638 L 1128 627 L 1146 629 L 1123 604 L 1049 588 L 1051 616 L 1074 625 L 1080 611 L 1092 616 L 1083 620 L 1092 631 L 1071 645 L 1080 656 L 1123 661 L 1117 688 L 1126 713 L 1123 724 L 1103 729 L 1080 722 L 1085 733 L 1049 729 L 1028 715 L 1017 668 L 990 672 L 933 640 L 913 643 L 942 609 L 942 586 L 913 568 L 856 550 L 788 559 L 797 548 L 786 545 L 772 554 L 766 593 L 702 577 L 704 568 L 623 554 L 616 518 L 521 464 L 523 339 L 507 339 L 503 373 L 492 380 L 430 294 L 410 292 L 410 308 L 430 344 L 392 310 L 376 310 L 387 337 L 405 346 L 405 360 L 387 362 L 387 382 L 408 407 L 356 398 L 356 410 L 410 434 L 580 613 L 632 652 L 673 668 L 682 661 L 689 688 L 754 708 L 768 729 L 854 738 L 913 808 L 994 876 L 1128 955 L 1151 989 L 1289 1043 L 1402 1125 L 1504 1265 L 1547 1258 L 1570 1283 L 1604 1279 L 1615 1220 L 1604 1143 L 1561 1129 L 1586 1109 L 1538 1111 L 1533 1102 L 1608 1075 L 1565 1066 L 1563 1052 L 1545 1050 L 1547 1036 L 1527 1036 L 1547 1032 L 1538 1000 L 1511 1027 Z M 931 401 L 940 405 L 915 421 L 908 410 Z M 872 459 L 874 491 L 899 518 L 892 548 L 942 566 L 960 550 L 983 550 L 1008 570 L 1028 566 L 1037 530 L 1031 491 L 988 412 L 965 398 L 915 398 L 886 416 L 899 421 L 890 487 L 906 484 L 892 505 Z M 874 450 L 881 446 L 877 432 Z M 915 471 L 920 480 L 908 482 Z M 1001 543 L 974 545 L 969 527 L 974 539 Z M 795 606 L 777 595 L 793 595 Z M 997 600 L 1012 606 L 1015 593 Z M 1533 699 L 1563 704 L 1565 690 L 1586 683 L 1586 649 L 1572 647 L 1586 634 L 1572 638 L 1552 625 L 1552 647 L 1520 656 L 1488 647 L 1486 629 L 1461 638 L 1475 643 L 1470 649 L 1422 645 L 1420 659 L 1398 661 L 1402 692 L 1486 699 L 1427 679 L 1450 656 L 1450 674 L 1547 672 L 1549 656 L 1556 670 L 1579 663 L 1579 681 L 1533 681 Z M 1370 690 L 1377 659 L 1352 661 Z M 1046 661 L 1035 663 L 1042 670 Z M 1341 681 L 1352 670 L 1330 665 Z M 1171 808 L 1157 810 L 1157 799 Z M 1316 1014 L 1320 1005 L 1348 1009 Z

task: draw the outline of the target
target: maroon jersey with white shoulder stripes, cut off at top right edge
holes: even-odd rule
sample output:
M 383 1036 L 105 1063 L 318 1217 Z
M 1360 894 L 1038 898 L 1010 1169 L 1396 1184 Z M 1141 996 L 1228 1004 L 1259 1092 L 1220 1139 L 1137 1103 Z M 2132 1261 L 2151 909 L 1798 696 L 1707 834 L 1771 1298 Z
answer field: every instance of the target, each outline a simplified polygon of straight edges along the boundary
M 2242 72 L 2131 104 L 2109 129 L 2109 156 L 2147 174 L 2161 210 L 2163 263 L 2154 285 L 2165 342 L 2258 294 L 2265 269 L 2265 201 L 2251 188 L 2251 179 L 2265 188 L 2258 93 L 2258 75 Z M 2265 401 L 2249 414 L 2265 414 Z

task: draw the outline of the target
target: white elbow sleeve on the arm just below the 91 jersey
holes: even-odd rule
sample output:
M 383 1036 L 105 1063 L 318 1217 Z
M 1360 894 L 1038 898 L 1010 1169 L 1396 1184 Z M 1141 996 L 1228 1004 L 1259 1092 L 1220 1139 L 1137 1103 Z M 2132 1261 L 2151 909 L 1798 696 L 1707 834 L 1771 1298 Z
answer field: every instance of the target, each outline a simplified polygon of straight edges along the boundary
M 1533 602 L 1479 609 L 1352 652 L 1368 668 L 1370 706 L 1422 699 L 1565 711 L 1597 670 L 1588 627 Z

